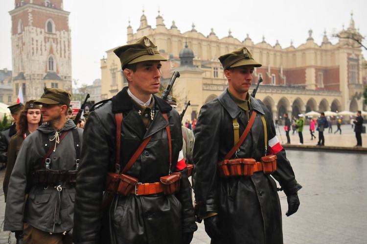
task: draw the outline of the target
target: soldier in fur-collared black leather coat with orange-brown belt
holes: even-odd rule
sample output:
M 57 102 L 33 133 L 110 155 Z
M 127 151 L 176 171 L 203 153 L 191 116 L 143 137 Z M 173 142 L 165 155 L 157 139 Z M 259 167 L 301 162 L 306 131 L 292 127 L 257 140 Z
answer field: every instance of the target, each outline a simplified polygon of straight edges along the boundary
M 147 37 L 114 52 L 120 58 L 129 87 L 92 107 L 89 114 L 83 134 L 87 146 L 82 150 L 76 183 L 73 241 L 75 244 L 189 244 L 197 226 L 186 165 L 184 160 L 178 160 L 183 144 L 180 116 L 169 104 L 153 95 L 159 91 L 161 61 L 166 59 Z M 118 162 L 121 170 L 142 141 L 151 136 L 126 172 L 129 177 L 138 179 L 139 184 L 135 187 L 143 187 L 146 191 L 138 195 L 133 190 L 127 196 L 118 192 L 102 209 L 106 175 L 121 172 L 115 162 L 115 114 L 118 113 L 123 116 Z M 146 188 L 159 185 L 160 178 L 171 171 L 182 175 L 178 193 L 165 195 L 158 188 L 154 191 Z

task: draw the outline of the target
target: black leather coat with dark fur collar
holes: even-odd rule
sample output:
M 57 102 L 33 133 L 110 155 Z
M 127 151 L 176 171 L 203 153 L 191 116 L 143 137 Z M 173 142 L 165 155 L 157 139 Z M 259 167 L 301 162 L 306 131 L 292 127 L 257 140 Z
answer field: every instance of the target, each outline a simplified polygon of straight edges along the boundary
M 183 139 L 180 116 L 161 98 L 155 100 L 155 116 L 148 129 L 133 108 L 127 87 L 89 115 L 84 130 L 75 199 L 73 241 L 75 244 L 173 244 L 182 233 L 196 228 L 187 170 L 182 171 L 177 195 L 116 195 L 101 218 L 102 193 L 107 171 L 115 172 L 115 113 L 123 113 L 121 124 L 121 169 L 142 140 L 152 135 L 143 153 L 126 174 L 141 183 L 159 182 L 169 172 L 169 149 L 162 113 L 167 113 L 172 139 L 171 170 L 176 171 Z

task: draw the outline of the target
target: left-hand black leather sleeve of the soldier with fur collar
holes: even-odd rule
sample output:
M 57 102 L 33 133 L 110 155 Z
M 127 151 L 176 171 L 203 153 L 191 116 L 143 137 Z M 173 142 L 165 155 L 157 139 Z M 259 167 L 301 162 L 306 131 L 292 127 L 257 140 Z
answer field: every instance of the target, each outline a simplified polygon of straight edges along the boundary
M 83 132 L 84 145 L 76 179 L 74 243 L 99 243 L 102 194 L 110 162 L 105 126 L 91 112 Z

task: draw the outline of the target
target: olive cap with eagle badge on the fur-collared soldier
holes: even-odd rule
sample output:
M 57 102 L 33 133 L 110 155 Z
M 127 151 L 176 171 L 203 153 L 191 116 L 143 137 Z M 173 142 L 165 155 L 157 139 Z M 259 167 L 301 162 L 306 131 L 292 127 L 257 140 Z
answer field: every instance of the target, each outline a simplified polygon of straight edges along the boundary
M 122 70 L 128 64 L 135 64 L 142 61 L 167 61 L 158 51 L 157 46 L 146 36 L 140 38 L 136 43 L 118 47 L 114 52 L 120 58 Z

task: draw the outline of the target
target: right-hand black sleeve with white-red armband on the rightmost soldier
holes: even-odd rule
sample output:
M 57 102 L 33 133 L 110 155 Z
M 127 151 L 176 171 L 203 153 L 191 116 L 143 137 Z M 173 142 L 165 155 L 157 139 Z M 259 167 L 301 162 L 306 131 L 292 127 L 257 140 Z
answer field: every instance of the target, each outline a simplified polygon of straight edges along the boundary
M 286 195 L 296 193 L 302 188 L 302 186 L 297 183 L 291 163 L 287 159 L 284 148 L 280 145 L 280 142 L 276 136 L 273 120 L 271 119 L 271 116 L 268 112 L 267 125 L 270 125 L 268 128 L 268 154 L 275 154 L 277 157 L 276 171 L 272 175 L 279 182 Z

